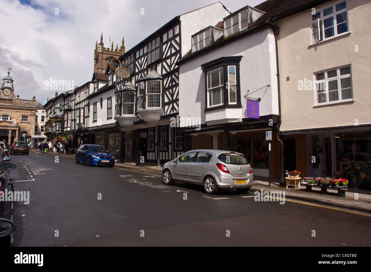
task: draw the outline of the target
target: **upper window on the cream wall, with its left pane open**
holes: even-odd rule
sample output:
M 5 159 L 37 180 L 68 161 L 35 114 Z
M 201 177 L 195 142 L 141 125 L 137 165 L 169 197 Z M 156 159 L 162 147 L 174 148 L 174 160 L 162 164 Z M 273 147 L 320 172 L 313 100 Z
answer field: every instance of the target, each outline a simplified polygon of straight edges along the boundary
M 312 43 L 349 31 L 347 1 L 341 1 L 311 14 Z

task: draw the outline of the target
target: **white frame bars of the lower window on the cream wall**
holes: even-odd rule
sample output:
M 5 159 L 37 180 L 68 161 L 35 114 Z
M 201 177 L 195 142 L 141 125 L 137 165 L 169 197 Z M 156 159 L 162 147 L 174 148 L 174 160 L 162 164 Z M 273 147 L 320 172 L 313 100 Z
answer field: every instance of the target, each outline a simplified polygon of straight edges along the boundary
M 340 75 L 340 70 L 343 69 L 343 68 L 347 68 L 347 67 L 349 67 L 350 74 Z M 327 72 L 333 71 L 333 70 L 336 70 L 336 77 L 328 78 L 327 77 Z M 316 75 L 321 74 L 321 73 L 325 74 L 325 79 L 324 80 L 317 80 Z M 341 66 L 341 67 L 336 67 L 336 68 L 331 68 L 331 69 L 327 69 L 327 70 L 324 70 L 324 71 L 316 72 L 316 73 L 313 74 L 313 78 L 314 78 L 314 81 L 313 81 L 314 82 L 314 84 L 313 84 L 314 102 L 315 102 L 316 106 L 317 105 L 320 106 L 320 105 L 338 104 L 338 103 L 344 103 L 344 102 L 348 102 L 348 101 L 354 101 L 354 99 L 353 99 L 353 84 L 352 84 L 352 67 L 351 67 L 351 65 L 346 65 L 346 66 Z M 341 79 L 342 78 L 350 78 L 350 84 L 351 84 L 350 88 L 351 88 L 351 93 L 352 93 L 351 98 L 341 99 Z M 328 83 L 329 83 L 329 81 L 333 81 L 333 80 L 338 81 L 338 98 L 339 99 L 334 100 L 334 101 L 329 101 Z M 322 103 L 317 102 L 317 84 L 321 84 L 322 86 L 325 86 L 324 93 L 326 94 L 326 102 L 322 102 Z

